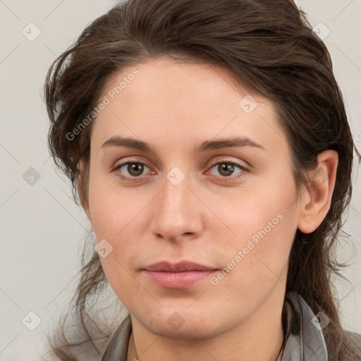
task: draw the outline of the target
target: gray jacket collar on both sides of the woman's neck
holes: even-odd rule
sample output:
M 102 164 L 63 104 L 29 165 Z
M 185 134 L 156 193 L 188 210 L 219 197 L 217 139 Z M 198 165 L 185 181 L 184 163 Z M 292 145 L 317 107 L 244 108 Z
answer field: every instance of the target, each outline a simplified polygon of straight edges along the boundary
M 285 298 L 284 316 L 286 318 L 284 347 L 276 361 L 329 361 L 322 333 L 322 329 L 328 323 L 326 315 L 319 313 L 316 316 L 300 295 L 288 292 Z M 132 322 L 128 316 L 111 338 L 101 361 L 126 361 L 131 331 Z M 361 335 L 349 334 L 361 345 Z

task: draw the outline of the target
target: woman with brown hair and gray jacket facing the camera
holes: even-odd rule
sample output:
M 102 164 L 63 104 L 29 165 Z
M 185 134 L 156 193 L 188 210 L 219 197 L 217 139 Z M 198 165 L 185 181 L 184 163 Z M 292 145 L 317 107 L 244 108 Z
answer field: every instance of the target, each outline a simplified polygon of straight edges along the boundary
M 97 240 L 75 295 L 85 360 L 361 359 L 331 283 L 353 138 L 292 1 L 126 1 L 45 91 Z M 88 312 L 108 283 L 129 312 L 116 330 Z

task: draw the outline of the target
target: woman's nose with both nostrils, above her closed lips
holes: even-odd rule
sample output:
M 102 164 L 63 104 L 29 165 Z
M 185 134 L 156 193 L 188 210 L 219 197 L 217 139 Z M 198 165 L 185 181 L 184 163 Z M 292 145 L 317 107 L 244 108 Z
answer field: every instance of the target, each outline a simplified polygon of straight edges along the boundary
M 200 188 L 188 174 L 181 183 L 174 182 L 181 176 L 164 176 L 162 190 L 153 202 L 154 212 L 150 231 L 159 239 L 177 242 L 178 240 L 195 239 L 204 231 L 207 207 L 204 206 L 197 192 Z

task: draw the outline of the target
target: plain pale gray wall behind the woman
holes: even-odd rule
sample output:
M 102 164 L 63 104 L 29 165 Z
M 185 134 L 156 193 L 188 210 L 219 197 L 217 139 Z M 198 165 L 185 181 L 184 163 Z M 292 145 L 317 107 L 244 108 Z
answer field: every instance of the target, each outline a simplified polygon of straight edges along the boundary
M 51 61 L 115 3 L 0 0 L 0 360 L 39 360 L 42 333 L 76 286 L 79 249 L 90 226 L 71 199 L 68 180 L 55 172 L 49 158 L 43 85 Z M 297 3 L 312 26 L 327 35 L 324 42 L 361 150 L 361 1 Z M 357 169 L 343 228 L 351 237 L 343 237 L 339 249 L 341 259 L 353 262 L 344 272 L 352 284 L 336 284 L 343 326 L 361 333 L 361 181 L 356 176 Z M 34 331 L 28 328 L 36 326 L 37 317 L 29 312 L 41 321 Z

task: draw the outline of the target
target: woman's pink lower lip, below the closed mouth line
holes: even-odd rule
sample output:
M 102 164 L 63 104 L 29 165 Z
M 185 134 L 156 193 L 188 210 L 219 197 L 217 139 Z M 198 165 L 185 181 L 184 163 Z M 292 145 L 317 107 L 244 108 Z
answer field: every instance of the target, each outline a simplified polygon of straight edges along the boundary
M 164 288 L 188 288 L 209 278 L 215 271 L 160 272 L 145 270 L 149 279 Z

